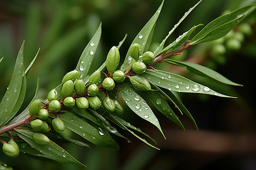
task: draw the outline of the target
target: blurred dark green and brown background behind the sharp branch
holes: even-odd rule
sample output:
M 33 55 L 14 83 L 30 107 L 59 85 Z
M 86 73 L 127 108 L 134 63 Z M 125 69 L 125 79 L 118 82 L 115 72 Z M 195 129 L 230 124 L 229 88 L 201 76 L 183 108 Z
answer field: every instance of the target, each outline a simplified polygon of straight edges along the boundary
M 49 90 L 60 84 L 65 73 L 75 69 L 82 50 L 96 32 L 100 22 L 102 22 L 102 37 L 90 73 L 105 61 L 109 49 L 113 45 L 118 45 L 127 33 L 127 39 L 120 49 L 121 58 L 125 58 L 134 37 L 161 2 L 160 0 L 0 0 L 0 58 L 4 57 L 0 63 L 1 99 L 10 82 L 16 54 L 23 40 L 25 40 L 25 67 L 34 58 L 39 47 L 41 49 L 27 75 L 27 94 L 22 109 L 30 103 L 38 78 L 40 95 L 44 99 Z M 168 42 L 175 40 L 196 24 L 207 24 L 228 11 L 252 2 L 255 1 L 204 0 L 180 24 Z M 151 50 L 154 51 L 156 45 L 162 41 L 184 12 L 196 3 L 197 0 L 164 2 L 156 23 Z M 87 165 L 88 170 L 256 169 L 256 109 L 255 83 L 253 83 L 256 73 L 255 16 L 254 11 L 242 21 L 241 24 L 250 26 L 251 33 L 243 35 L 238 48 L 230 47 L 227 40 L 209 42 L 192 46 L 183 53 L 183 56 L 176 57 L 206 65 L 230 80 L 243 84 L 244 87 L 222 84 L 221 87 L 217 87 L 216 82 L 209 82 L 207 79 L 189 74 L 185 69 L 166 64 L 160 66 L 162 69 L 204 83 L 224 94 L 238 96 L 238 99 L 227 99 L 179 94 L 183 104 L 195 118 L 199 131 L 187 117 L 179 115 L 187 129 L 183 131 L 156 112 L 167 138 L 164 140 L 154 126 L 141 121 L 141 118 L 135 114 L 126 112 L 123 117 L 156 139 L 160 151 L 146 146 L 121 129 L 119 131 L 130 138 L 131 142 L 127 143 L 124 139 L 114 137 L 120 145 L 118 151 L 93 145 L 90 145 L 91 148 L 69 144 L 61 146 Z M 236 27 L 233 33 L 239 31 L 240 29 Z M 214 49 L 216 44 L 224 46 L 225 52 Z M 176 113 L 178 114 L 177 111 Z M 83 169 L 74 165 L 32 159 L 24 154 L 9 159 L 2 152 L 0 152 L 0 162 L 14 169 Z

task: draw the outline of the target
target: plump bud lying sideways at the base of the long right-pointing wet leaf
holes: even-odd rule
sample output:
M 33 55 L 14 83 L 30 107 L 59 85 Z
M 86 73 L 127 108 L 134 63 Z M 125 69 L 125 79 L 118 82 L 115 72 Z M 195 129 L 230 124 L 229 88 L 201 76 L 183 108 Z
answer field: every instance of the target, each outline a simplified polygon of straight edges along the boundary
M 130 82 L 134 87 L 139 90 L 146 91 L 151 90 L 150 83 L 140 75 L 130 76 Z

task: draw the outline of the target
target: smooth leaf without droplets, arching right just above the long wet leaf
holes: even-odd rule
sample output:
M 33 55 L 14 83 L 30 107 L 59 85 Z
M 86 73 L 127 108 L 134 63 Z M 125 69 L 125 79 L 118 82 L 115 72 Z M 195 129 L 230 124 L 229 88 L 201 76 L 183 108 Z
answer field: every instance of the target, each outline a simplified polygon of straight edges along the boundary
M 225 76 L 217 73 L 216 71 L 209 69 L 208 67 L 198 65 L 196 63 L 176 61 L 174 59 L 164 59 L 163 61 L 166 61 L 176 66 L 186 67 L 189 71 L 192 71 L 195 74 L 206 76 L 225 84 L 230 84 L 233 86 L 242 86 L 241 84 L 234 83 L 231 80 L 225 78 Z

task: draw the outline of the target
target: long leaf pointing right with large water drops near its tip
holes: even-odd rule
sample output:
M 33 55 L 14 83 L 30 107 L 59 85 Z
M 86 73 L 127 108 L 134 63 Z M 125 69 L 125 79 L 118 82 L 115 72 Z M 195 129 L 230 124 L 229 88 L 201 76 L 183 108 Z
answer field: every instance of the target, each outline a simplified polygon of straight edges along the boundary
M 148 82 L 155 84 L 156 86 L 166 88 L 171 91 L 177 92 L 189 92 L 189 93 L 199 93 L 207 95 L 215 95 L 220 97 L 232 97 L 222 95 L 216 91 L 211 90 L 202 84 L 193 82 L 183 76 L 168 73 L 161 70 L 151 70 L 147 69 L 144 74 L 141 74 Z M 234 97 L 233 97 L 234 98 Z

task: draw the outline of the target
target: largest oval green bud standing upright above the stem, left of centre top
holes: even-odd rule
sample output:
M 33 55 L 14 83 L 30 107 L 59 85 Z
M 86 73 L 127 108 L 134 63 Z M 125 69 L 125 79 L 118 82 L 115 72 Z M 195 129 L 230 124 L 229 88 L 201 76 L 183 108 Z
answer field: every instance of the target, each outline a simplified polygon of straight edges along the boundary
M 120 54 L 119 50 L 116 46 L 113 46 L 108 53 L 108 56 L 106 57 L 106 68 L 109 71 L 109 73 L 113 73 L 117 66 L 119 65 L 120 61 Z

